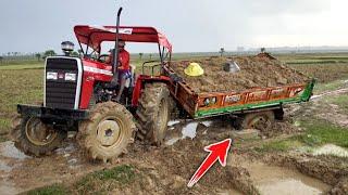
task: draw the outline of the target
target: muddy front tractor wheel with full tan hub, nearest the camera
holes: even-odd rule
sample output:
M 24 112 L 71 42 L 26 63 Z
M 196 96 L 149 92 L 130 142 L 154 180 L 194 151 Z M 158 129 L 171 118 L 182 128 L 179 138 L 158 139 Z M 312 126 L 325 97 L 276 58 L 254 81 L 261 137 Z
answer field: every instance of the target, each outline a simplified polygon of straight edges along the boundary
M 115 159 L 134 141 L 136 126 L 121 104 L 96 104 L 87 120 L 79 123 L 77 142 L 88 158 L 107 162 Z

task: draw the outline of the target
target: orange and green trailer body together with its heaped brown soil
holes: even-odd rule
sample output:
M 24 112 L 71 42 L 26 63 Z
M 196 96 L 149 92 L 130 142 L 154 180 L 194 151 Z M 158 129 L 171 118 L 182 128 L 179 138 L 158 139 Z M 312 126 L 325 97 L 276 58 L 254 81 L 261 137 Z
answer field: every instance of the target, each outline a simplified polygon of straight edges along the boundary
M 239 70 L 225 72 L 226 63 Z M 171 93 L 192 118 L 216 115 L 282 110 L 284 104 L 307 102 L 315 80 L 264 56 L 210 57 L 195 60 L 204 74 L 185 74 L 190 61 L 172 62 L 170 75 L 181 78 L 172 82 Z

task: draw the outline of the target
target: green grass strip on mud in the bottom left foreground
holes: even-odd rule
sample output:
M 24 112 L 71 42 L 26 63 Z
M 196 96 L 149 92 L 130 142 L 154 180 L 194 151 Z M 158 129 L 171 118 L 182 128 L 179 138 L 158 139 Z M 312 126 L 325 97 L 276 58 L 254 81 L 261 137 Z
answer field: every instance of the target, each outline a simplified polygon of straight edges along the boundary
M 136 168 L 128 165 L 117 166 L 89 173 L 72 185 L 53 184 L 29 191 L 28 195 L 63 195 L 63 194 L 109 194 L 135 181 Z

